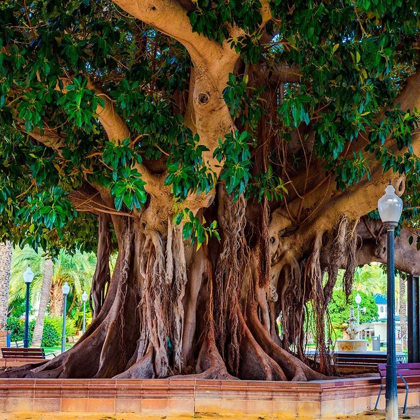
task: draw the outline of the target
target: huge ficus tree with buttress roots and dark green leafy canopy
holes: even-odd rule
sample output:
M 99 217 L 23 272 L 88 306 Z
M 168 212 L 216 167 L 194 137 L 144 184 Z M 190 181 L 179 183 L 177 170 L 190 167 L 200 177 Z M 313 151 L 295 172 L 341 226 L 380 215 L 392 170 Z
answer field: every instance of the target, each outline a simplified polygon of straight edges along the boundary
M 86 334 L 3 375 L 328 374 L 337 271 L 349 294 L 358 264 L 384 260 L 388 178 L 397 267 L 420 269 L 419 7 L 2 2 L 1 234 L 98 255 Z

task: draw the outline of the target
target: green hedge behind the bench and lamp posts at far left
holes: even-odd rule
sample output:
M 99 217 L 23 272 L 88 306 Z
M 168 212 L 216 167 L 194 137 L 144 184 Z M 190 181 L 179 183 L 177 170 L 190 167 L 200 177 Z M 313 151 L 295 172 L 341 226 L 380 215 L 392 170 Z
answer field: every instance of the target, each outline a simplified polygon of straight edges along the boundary
M 29 342 L 32 341 L 34 333 L 35 320 L 29 323 Z M 42 334 L 42 347 L 55 347 L 61 343 L 61 334 L 63 328 L 63 319 L 61 317 L 45 316 L 44 331 Z M 25 321 L 17 317 L 8 317 L 6 329 L 11 331 L 10 341 L 22 341 L 25 335 Z M 66 336 L 74 336 L 76 326 L 72 319 L 66 319 Z

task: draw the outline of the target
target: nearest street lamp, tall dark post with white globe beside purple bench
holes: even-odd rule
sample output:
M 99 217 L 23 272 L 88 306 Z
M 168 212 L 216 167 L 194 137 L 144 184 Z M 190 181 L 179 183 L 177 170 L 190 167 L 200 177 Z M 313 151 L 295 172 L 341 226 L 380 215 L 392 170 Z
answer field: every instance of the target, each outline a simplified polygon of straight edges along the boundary
M 385 420 L 398 420 L 397 363 L 395 358 L 395 269 L 394 230 L 403 210 L 403 201 L 389 185 L 378 200 L 379 216 L 387 234 L 387 308 L 386 308 L 386 379 L 385 379 Z

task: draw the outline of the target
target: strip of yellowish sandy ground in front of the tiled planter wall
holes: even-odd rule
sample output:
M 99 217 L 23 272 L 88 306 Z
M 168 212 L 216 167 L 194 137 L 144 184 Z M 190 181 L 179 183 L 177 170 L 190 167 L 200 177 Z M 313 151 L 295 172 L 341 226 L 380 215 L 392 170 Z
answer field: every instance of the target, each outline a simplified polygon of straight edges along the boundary
M 0 420 L 192 420 L 192 419 L 203 419 L 203 420 L 236 420 L 242 419 L 242 417 L 229 417 L 229 416 L 217 416 L 217 415 L 195 415 L 195 416 L 145 416 L 141 414 L 121 414 L 121 415 L 109 415 L 109 414 L 80 414 L 80 413 L 0 413 Z M 246 420 L 269 420 L 270 417 L 247 417 Z M 307 419 L 315 419 L 315 417 L 308 417 Z M 355 416 L 336 416 L 324 420 L 385 420 L 384 411 L 367 411 L 362 414 Z M 420 407 L 412 408 L 407 410 L 407 414 L 403 415 L 400 413 L 400 419 L 413 419 L 420 420 Z M 285 419 L 288 420 L 288 419 Z

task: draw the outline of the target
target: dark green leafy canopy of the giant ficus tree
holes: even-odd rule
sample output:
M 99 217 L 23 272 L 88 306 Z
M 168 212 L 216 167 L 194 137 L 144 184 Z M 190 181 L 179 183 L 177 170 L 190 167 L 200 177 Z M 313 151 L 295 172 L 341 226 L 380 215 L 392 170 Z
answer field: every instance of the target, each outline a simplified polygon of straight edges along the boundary
M 277 202 L 288 177 L 315 158 L 340 190 L 369 179 L 378 163 L 405 175 L 403 222 L 415 225 L 420 161 L 411 138 L 420 116 L 396 99 L 419 66 L 419 2 L 269 5 L 273 19 L 265 29 L 260 0 L 197 0 L 188 10 L 193 31 L 226 43 L 245 65 L 223 91 L 233 125 L 213 139 L 220 180 L 234 197 Z M 177 203 L 209 193 L 216 180 L 203 159 L 208 147 L 186 126 L 176 100 L 188 94 L 191 65 L 183 45 L 110 1 L 2 2 L 0 237 L 54 255 L 94 250 L 96 218 L 72 204 L 72 192 L 109 188 L 111 211 L 139 209 L 148 199 L 143 159 L 157 162 Z M 298 78 L 279 83 L 283 65 L 296 67 Z M 120 142 L 98 120 L 108 100 L 129 132 Z M 385 145 L 388 137 L 395 147 Z M 261 168 L 255 156 L 267 139 L 278 147 L 266 151 L 270 165 Z

